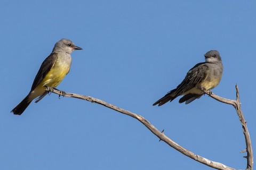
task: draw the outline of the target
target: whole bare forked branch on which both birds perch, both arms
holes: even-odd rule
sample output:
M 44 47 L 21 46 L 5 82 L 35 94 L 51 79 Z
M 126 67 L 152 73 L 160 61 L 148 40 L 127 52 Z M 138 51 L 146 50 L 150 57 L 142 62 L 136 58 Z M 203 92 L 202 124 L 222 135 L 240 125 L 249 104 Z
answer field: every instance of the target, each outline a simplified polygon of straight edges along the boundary
M 153 126 L 152 124 L 150 124 L 149 121 L 147 121 L 144 117 L 142 117 L 141 115 L 138 115 L 138 114 L 135 114 L 135 113 L 132 113 L 130 111 L 126 111 L 125 109 L 122 109 L 122 108 L 119 108 L 119 107 L 116 107 L 112 104 L 108 104 L 106 103 L 105 101 L 103 100 L 100 100 L 100 99 L 97 99 L 97 98 L 93 98 L 93 97 L 90 97 L 90 96 L 84 96 L 84 95 L 79 95 L 79 94 L 72 94 L 72 93 L 67 93 L 67 92 L 63 92 L 63 91 L 60 91 L 60 90 L 57 90 L 57 89 L 52 89 L 50 87 L 47 87 L 46 88 L 46 91 L 49 91 L 49 92 L 53 92 L 55 94 L 58 94 L 58 95 L 61 95 L 61 96 L 65 96 L 65 97 L 73 97 L 73 98 L 78 98 L 78 99 L 83 99 L 83 100 L 87 100 L 87 101 L 91 101 L 92 103 L 97 103 L 97 104 L 100 104 L 100 105 L 103 105 L 103 106 L 106 106 L 110 109 L 113 109 L 114 111 L 117 111 L 117 112 L 120 112 L 120 113 L 123 113 L 123 114 L 126 114 L 126 115 L 129 115 L 133 118 L 136 118 L 138 121 L 140 121 L 142 124 L 144 124 L 152 133 L 154 133 L 160 140 L 164 141 L 165 143 L 167 143 L 169 146 L 171 146 L 172 148 L 178 150 L 179 152 L 181 152 L 182 154 L 196 160 L 197 162 L 199 163 L 202 163 L 202 164 L 205 164 L 207 166 L 210 166 L 212 168 L 216 168 L 216 169 L 225 169 L 225 170 L 231 170 L 234 168 L 231 168 L 231 167 L 228 167 L 226 165 L 223 165 L 221 163 L 218 163 L 218 162 L 213 162 L 212 160 L 209 160 L 209 159 L 206 159 L 202 156 L 199 156 L 199 155 L 196 155 L 194 154 L 193 152 L 187 150 L 186 148 L 183 148 L 181 147 L 180 145 L 178 145 L 178 143 L 175 143 L 174 141 L 172 141 L 170 138 L 166 137 L 166 135 L 159 131 L 158 129 L 155 128 L 155 126 Z M 238 88 L 237 88 L 237 91 L 238 91 Z M 212 94 L 212 92 L 207 92 L 207 91 L 204 91 L 206 94 L 210 95 L 212 98 L 218 100 L 218 101 L 221 101 L 223 103 L 227 103 L 227 104 L 230 104 L 232 105 L 234 103 L 233 100 L 229 100 L 229 99 L 225 99 L 225 98 L 221 98 L 217 95 L 214 95 Z M 238 94 L 238 92 L 237 92 Z M 238 97 L 238 101 L 239 101 L 239 94 L 237 95 Z M 235 100 L 236 101 L 236 100 Z M 236 106 L 236 107 L 235 107 Z M 235 108 L 240 108 L 240 103 L 239 105 L 235 105 L 234 107 Z M 241 108 L 240 108 L 240 111 L 241 111 Z M 242 111 L 239 112 L 239 114 L 242 114 L 242 117 L 243 117 L 243 113 Z M 239 116 L 239 120 L 244 120 L 244 118 L 240 118 Z M 242 123 L 242 122 L 241 122 Z M 245 125 L 243 125 L 245 124 Z M 252 147 L 251 147 L 251 140 L 250 140 L 250 135 L 249 135 L 249 132 L 247 130 L 247 126 L 246 126 L 246 122 L 244 121 L 244 123 L 242 123 L 243 125 L 243 130 L 244 130 L 244 134 L 245 134 L 245 137 L 246 137 L 246 146 L 247 146 L 247 141 L 248 142 L 248 146 L 247 146 L 247 154 L 248 154 L 248 157 L 250 158 L 247 158 L 248 160 L 248 165 L 247 165 L 247 169 L 252 169 L 253 167 L 253 156 L 252 156 Z M 248 149 L 249 148 L 249 149 Z M 249 151 L 250 150 L 250 151 Z M 249 154 L 250 153 L 250 154 Z M 250 156 L 249 156 L 250 155 Z M 250 161 L 249 161 L 250 160 Z M 249 164 L 250 163 L 250 164 Z

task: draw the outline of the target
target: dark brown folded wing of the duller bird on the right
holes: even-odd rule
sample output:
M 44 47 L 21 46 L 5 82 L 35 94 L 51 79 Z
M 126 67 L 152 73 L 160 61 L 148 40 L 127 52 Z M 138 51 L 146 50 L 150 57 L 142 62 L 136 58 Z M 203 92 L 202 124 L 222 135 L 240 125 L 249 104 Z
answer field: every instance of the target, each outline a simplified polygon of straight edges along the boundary
M 207 78 L 207 71 L 209 71 L 209 67 L 205 63 L 196 64 L 188 71 L 185 79 L 177 87 L 174 98 L 184 94 L 204 81 Z

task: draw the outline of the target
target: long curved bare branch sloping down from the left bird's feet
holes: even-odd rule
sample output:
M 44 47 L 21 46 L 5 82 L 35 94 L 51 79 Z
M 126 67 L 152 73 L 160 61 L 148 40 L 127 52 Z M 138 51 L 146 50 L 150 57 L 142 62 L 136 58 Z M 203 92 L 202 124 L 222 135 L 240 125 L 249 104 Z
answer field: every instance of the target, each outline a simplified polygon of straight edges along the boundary
M 165 143 L 167 143 L 169 146 L 171 146 L 172 148 L 178 150 L 179 152 L 181 152 L 182 154 L 190 157 L 191 159 L 196 160 L 199 163 L 205 164 L 207 166 L 210 166 L 212 168 L 216 168 L 216 169 L 225 169 L 225 170 L 234 170 L 234 168 L 228 167 L 226 165 L 223 165 L 221 163 L 218 162 L 213 162 L 212 160 L 206 159 L 202 156 L 196 155 L 193 152 L 187 150 L 186 148 L 181 147 L 180 145 L 178 145 L 178 143 L 175 143 L 174 141 L 172 141 L 170 138 L 168 138 L 163 132 L 159 131 L 158 129 L 155 128 L 154 125 L 150 124 L 149 121 L 147 121 L 144 117 L 142 117 L 141 115 L 132 113 L 130 111 L 126 111 L 125 109 L 116 107 L 112 104 L 108 104 L 103 100 L 97 99 L 97 98 L 93 98 L 90 96 L 84 96 L 84 95 L 79 95 L 79 94 L 73 94 L 73 93 L 68 93 L 68 92 L 62 92 L 59 90 L 55 90 L 52 89 L 50 87 L 46 88 L 46 91 L 50 91 L 53 92 L 55 94 L 58 95 L 62 95 L 65 97 L 73 97 L 73 98 L 78 98 L 78 99 L 83 99 L 83 100 L 87 100 L 87 101 L 91 101 L 92 103 L 97 103 L 103 106 L 106 106 L 110 109 L 113 109 L 117 112 L 129 115 L 133 118 L 136 118 L 138 121 L 140 121 L 142 124 L 144 124 L 152 133 L 154 133 L 160 140 L 164 141 Z

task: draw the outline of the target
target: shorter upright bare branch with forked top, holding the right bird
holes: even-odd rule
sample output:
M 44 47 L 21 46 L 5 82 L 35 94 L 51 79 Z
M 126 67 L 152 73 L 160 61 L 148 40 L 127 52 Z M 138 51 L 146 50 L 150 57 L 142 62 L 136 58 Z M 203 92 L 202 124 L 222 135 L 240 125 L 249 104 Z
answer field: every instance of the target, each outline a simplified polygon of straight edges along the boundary
M 247 125 L 246 125 L 246 121 L 241 109 L 241 103 L 240 103 L 240 99 L 239 99 L 239 89 L 238 86 L 236 84 L 236 100 L 230 100 L 230 99 L 226 99 L 226 98 L 222 98 L 220 96 L 214 95 L 211 91 L 206 91 L 201 89 L 203 92 L 205 92 L 205 94 L 211 96 L 212 98 L 214 98 L 215 100 L 221 101 L 222 103 L 226 103 L 229 105 L 232 105 L 235 107 L 236 109 L 236 113 L 239 117 L 239 121 L 242 124 L 242 128 L 243 128 L 243 133 L 244 133 L 244 137 L 245 137 L 245 143 L 246 143 L 246 149 L 241 151 L 241 152 L 247 152 L 247 167 L 246 170 L 252 170 L 253 169 L 253 153 L 252 153 L 252 142 L 251 142 L 251 138 L 250 138 L 250 134 L 249 131 L 247 129 Z

